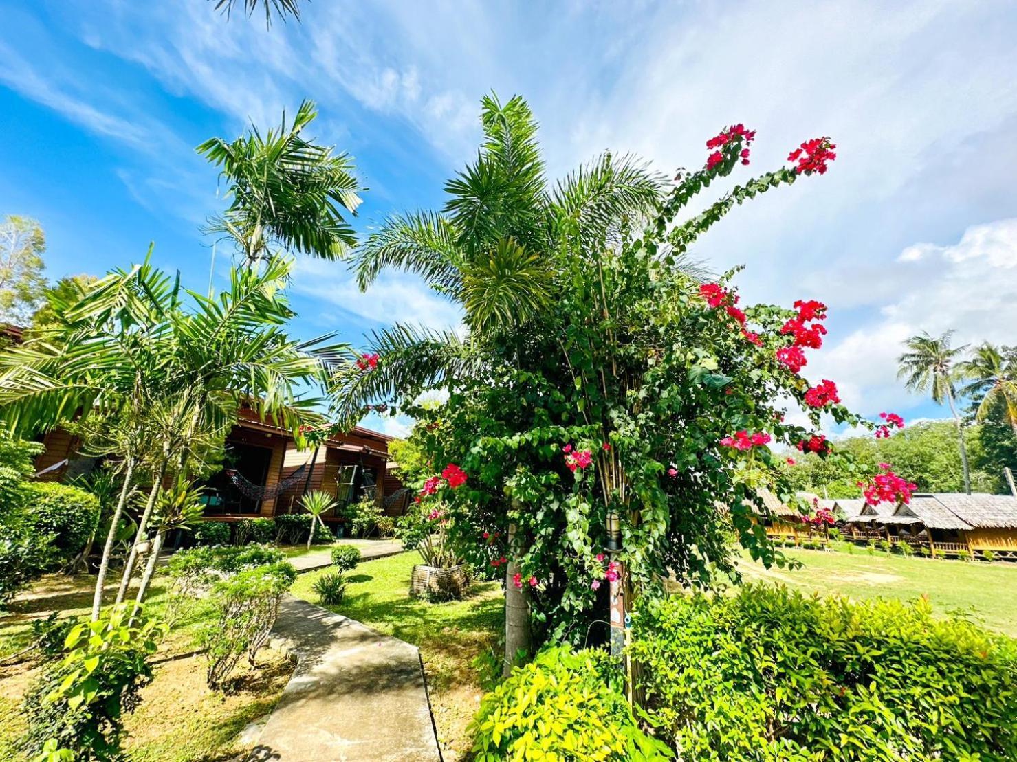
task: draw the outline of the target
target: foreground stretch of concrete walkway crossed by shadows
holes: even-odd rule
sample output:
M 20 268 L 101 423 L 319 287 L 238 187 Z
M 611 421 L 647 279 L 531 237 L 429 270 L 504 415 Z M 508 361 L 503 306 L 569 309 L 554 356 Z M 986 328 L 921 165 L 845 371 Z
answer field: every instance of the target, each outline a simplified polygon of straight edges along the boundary
M 297 669 L 245 762 L 440 762 L 416 646 L 290 596 L 273 634 Z

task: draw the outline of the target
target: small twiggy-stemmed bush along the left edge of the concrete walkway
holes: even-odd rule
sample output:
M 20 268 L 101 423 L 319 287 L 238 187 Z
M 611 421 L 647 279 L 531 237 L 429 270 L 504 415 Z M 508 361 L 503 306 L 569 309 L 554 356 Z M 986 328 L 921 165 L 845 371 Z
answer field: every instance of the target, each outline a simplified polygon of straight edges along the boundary
M 213 585 L 210 599 L 216 618 L 198 636 L 210 688 L 221 688 L 245 653 L 254 665 L 257 652 L 268 642 L 279 604 L 296 578 L 292 564 L 279 562 L 244 569 Z

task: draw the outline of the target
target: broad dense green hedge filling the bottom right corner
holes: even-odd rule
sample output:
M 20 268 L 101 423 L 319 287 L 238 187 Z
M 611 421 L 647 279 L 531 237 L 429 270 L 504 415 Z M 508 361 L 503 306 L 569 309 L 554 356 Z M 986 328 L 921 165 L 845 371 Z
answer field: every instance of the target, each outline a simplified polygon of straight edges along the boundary
M 682 759 L 1017 759 L 1017 641 L 925 600 L 676 596 L 636 613 L 631 653 Z

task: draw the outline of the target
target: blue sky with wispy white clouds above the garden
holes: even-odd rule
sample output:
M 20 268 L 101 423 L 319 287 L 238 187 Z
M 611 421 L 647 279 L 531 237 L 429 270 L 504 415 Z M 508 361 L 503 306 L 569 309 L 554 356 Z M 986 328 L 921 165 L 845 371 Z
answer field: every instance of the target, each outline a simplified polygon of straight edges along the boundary
M 745 264 L 746 301 L 827 302 L 806 375 L 851 406 L 941 417 L 894 379 L 904 337 L 1017 343 L 1014 39 L 1010 2 L 315 0 L 265 30 L 206 0 L 0 0 L 0 214 L 43 223 L 51 277 L 154 241 L 161 266 L 203 290 L 198 229 L 222 204 L 193 146 L 304 98 L 320 107 L 312 134 L 370 188 L 361 232 L 441 202 L 491 90 L 530 101 L 552 177 L 603 148 L 696 166 L 707 137 L 743 122 L 759 131 L 744 179 L 828 134 L 826 176 L 736 209 L 696 253 Z M 220 250 L 214 277 L 227 267 Z M 292 296 L 305 336 L 458 322 L 411 277 L 360 295 L 332 263 L 301 260 Z

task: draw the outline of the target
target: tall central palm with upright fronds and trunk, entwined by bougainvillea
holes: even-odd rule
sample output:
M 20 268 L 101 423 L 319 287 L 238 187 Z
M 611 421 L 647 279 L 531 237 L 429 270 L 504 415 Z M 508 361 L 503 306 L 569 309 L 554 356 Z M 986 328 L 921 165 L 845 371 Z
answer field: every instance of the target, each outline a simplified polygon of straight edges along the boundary
M 521 98 L 501 104 L 483 99 L 485 140 L 476 161 L 445 184 L 441 211 L 390 218 L 352 256 L 361 289 L 385 268 L 420 275 L 464 312 L 469 337 L 396 325 L 376 332 L 377 372 L 337 378 L 340 418 L 355 423 L 370 400 L 427 388 L 460 375 L 483 375 L 502 362 L 491 352 L 498 336 L 553 307 L 555 283 L 567 277 L 567 260 L 586 258 L 638 225 L 663 200 L 664 179 L 632 156 L 605 152 L 553 186 L 544 174 L 537 123 Z M 511 352 L 524 352 L 521 344 Z M 516 525 L 508 543 L 521 547 Z M 522 554 L 510 554 L 512 559 Z M 516 654 L 529 652 L 530 590 L 512 580 L 505 565 L 505 672 Z

